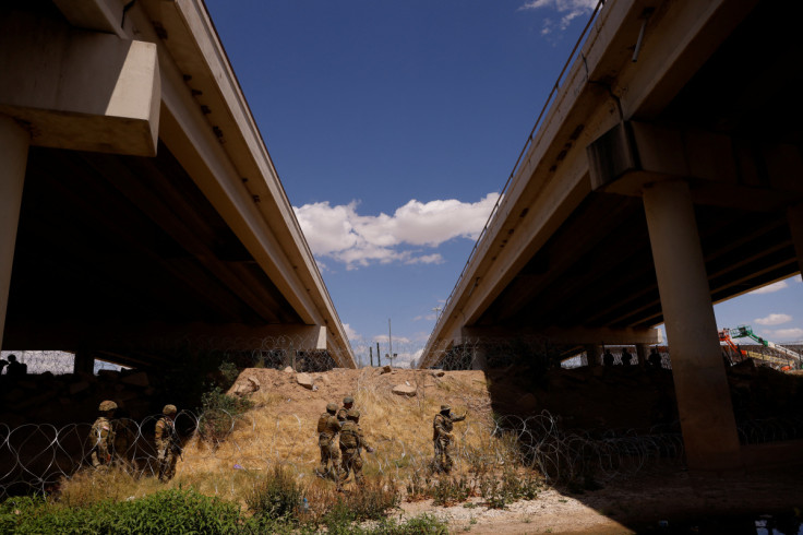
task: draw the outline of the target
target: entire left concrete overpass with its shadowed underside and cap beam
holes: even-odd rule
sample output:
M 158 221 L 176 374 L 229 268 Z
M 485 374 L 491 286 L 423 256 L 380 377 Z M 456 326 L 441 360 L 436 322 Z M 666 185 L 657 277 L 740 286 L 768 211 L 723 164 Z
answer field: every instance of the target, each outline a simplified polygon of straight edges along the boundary
M 202 1 L 4 2 L 0 73 L 4 349 L 269 336 L 355 366 Z

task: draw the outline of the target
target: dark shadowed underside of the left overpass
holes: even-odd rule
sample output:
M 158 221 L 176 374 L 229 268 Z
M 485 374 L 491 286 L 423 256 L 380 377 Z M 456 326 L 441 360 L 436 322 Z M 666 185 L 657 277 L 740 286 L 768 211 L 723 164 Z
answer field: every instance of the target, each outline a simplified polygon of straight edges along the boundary
M 155 338 L 301 323 L 164 144 L 154 158 L 31 148 L 5 347 L 157 358 Z

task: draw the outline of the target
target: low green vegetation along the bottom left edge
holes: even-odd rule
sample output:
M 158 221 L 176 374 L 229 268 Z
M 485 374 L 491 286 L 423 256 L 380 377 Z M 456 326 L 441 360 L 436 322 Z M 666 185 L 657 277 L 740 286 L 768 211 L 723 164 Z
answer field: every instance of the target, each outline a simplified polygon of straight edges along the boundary
M 280 471 L 279 471 L 280 472 Z M 280 480 L 277 480 L 280 479 Z M 331 534 L 446 534 L 446 526 L 423 514 L 407 521 L 385 518 L 397 497 L 388 500 L 375 487 L 338 497 L 328 502 L 321 518 L 310 515 L 289 499 L 300 496 L 286 474 L 268 476 L 259 488 L 266 495 L 253 515 L 243 513 L 236 503 L 209 498 L 193 489 L 168 489 L 136 500 L 106 500 L 76 508 L 50 502 L 41 497 L 9 498 L 0 503 L 0 533 L 9 534 L 233 534 L 256 533 L 312 534 L 325 526 Z M 296 495 L 295 492 L 298 492 Z M 278 507 L 271 497 L 278 500 Z M 303 503 L 299 501 L 298 503 Z M 357 506 L 356 509 L 351 509 Z M 271 512 L 273 511 L 273 513 Z M 374 520 L 370 526 L 356 524 Z

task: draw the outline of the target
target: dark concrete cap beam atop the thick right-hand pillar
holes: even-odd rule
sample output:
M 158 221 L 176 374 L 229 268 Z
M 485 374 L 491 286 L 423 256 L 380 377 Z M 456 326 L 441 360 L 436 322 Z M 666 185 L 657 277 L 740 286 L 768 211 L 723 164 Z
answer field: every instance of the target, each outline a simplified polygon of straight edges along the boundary
M 623 121 L 586 151 L 595 191 L 640 195 L 681 177 L 693 181 L 697 204 L 771 211 L 803 199 L 803 156 L 789 143 Z

